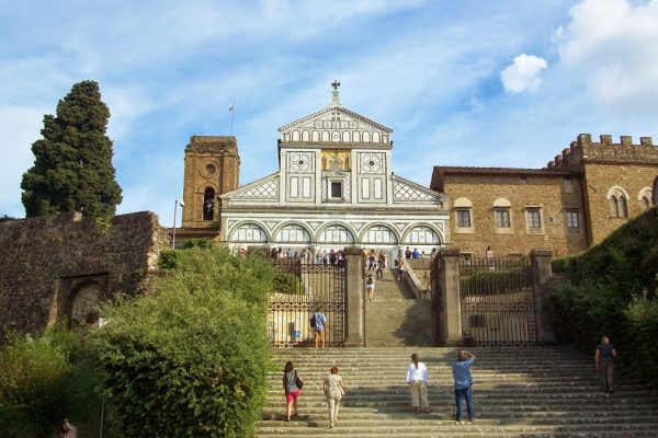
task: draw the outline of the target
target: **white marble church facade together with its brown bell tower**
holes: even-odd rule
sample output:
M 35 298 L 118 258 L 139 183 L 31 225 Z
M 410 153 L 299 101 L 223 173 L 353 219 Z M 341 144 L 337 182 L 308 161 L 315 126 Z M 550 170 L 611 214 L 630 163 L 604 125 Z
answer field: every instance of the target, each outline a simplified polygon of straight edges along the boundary
M 330 106 L 279 129 L 280 170 L 258 181 L 239 186 L 234 137 L 192 137 L 179 239 L 310 256 L 354 244 L 389 257 L 450 242 L 447 198 L 396 175 L 393 130 L 343 107 L 332 85 Z

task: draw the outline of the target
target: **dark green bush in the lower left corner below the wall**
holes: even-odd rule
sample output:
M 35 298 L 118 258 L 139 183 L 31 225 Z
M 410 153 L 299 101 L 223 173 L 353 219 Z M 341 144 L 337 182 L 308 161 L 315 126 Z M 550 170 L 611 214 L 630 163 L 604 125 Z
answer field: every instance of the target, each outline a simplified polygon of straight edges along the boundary
M 100 412 L 97 384 L 75 333 L 49 328 L 41 336 L 11 335 L 0 350 L 0 436 L 47 437 L 65 417 L 89 419 Z

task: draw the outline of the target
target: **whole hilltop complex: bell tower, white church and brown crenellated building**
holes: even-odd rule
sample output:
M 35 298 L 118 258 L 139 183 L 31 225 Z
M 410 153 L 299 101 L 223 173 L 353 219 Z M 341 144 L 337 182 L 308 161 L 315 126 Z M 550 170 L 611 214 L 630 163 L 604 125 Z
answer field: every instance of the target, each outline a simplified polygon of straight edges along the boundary
M 179 244 L 207 237 L 314 258 L 348 245 L 389 257 L 449 246 L 474 256 L 488 246 L 496 256 L 536 247 L 559 256 L 655 204 L 650 137 L 633 145 L 581 134 L 545 169 L 436 165 L 424 187 L 394 173 L 393 130 L 343 107 L 332 85 L 330 106 L 279 129 L 279 171 L 246 185 L 235 137 L 191 137 Z

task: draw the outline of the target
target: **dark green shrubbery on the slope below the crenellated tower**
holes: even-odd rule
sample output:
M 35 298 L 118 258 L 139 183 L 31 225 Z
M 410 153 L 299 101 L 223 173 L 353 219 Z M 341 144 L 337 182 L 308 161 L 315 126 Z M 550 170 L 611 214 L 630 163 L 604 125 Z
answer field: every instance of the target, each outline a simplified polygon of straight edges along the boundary
M 559 341 L 592 349 L 609 335 L 623 369 L 658 387 L 651 371 L 658 365 L 657 216 L 654 208 L 586 253 L 556 261 L 568 280 L 554 286 L 548 307 Z

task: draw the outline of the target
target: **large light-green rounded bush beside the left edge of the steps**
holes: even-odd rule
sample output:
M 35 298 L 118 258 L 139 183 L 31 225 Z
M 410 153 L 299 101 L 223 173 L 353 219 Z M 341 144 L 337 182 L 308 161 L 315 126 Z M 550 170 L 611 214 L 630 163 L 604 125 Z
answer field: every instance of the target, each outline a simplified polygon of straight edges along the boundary
M 158 293 L 104 308 L 93 336 L 116 435 L 248 437 L 270 364 L 272 267 L 225 249 L 181 251 Z

